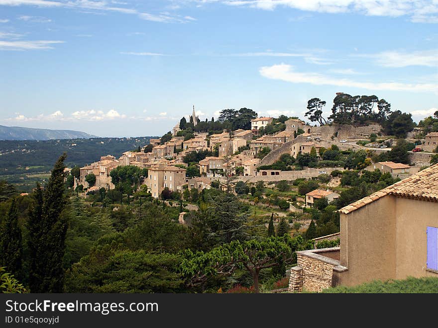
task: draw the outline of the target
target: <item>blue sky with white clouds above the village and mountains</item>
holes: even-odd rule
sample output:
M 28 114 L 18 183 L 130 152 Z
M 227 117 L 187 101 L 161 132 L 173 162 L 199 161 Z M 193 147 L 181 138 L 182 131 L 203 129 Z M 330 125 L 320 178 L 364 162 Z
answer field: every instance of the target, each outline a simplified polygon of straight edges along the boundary
M 438 108 L 436 0 L 0 0 L 0 124 L 169 131 L 195 105 L 304 118 L 375 94 Z

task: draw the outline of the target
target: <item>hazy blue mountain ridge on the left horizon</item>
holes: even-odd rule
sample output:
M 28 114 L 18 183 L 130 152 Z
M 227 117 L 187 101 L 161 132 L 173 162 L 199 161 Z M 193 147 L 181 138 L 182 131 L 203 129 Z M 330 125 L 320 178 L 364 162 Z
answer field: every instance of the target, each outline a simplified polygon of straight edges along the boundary
M 0 125 L 0 140 L 51 140 L 97 138 L 91 134 L 73 130 L 49 130 Z

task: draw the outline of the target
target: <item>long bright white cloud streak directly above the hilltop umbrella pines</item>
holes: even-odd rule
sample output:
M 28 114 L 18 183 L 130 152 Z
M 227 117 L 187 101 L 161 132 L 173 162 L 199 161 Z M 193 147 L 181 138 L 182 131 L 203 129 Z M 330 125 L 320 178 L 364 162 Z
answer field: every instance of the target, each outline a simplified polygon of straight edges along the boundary
M 393 91 L 425 91 L 438 92 L 436 83 L 400 83 L 400 82 L 357 82 L 348 79 L 330 78 L 313 72 L 295 72 L 293 66 L 278 64 L 261 67 L 259 73 L 268 79 L 281 80 L 292 83 L 310 83 L 314 85 L 336 85 L 355 87 L 370 90 L 393 90 Z

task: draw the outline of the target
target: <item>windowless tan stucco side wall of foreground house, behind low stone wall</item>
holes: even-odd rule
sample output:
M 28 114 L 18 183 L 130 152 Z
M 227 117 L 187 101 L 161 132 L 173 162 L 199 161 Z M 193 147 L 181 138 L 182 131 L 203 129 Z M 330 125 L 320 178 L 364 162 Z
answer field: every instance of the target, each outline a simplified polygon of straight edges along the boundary
M 382 197 L 348 215 L 340 214 L 339 284 L 357 285 L 396 277 L 396 216 L 393 196 Z

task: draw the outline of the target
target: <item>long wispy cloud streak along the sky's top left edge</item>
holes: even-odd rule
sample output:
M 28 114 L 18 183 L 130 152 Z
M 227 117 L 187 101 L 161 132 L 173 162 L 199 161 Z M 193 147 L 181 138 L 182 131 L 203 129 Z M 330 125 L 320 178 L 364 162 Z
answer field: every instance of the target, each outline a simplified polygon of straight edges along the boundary
M 64 7 L 70 9 L 85 9 L 91 12 L 119 12 L 124 14 L 134 14 L 141 19 L 155 21 L 155 22 L 179 22 L 187 23 L 189 21 L 195 20 L 195 18 L 190 16 L 181 16 L 171 13 L 158 13 L 153 14 L 149 12 L 138 11 L 135 8 L 121 7 L 119 5 L 128 4 L 121 1 L 92 1 L 92 0 L 70 0 L 67 2 L 61 1 L 48 1 L 48 0 L 0 0 L 0 5 L 7 6 L 20 6 L 20 5 L 31 5 L 38 7 Z

